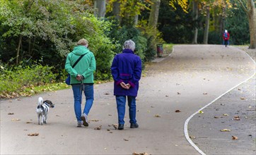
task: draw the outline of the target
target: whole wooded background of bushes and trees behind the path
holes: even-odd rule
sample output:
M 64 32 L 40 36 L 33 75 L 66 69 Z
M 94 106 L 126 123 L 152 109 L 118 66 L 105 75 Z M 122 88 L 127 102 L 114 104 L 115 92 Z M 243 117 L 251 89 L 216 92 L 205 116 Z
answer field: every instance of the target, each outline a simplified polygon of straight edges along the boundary
M 13 66 L 51 66 L 55 80 L 81 38 L 97 61 L 96 80 L 111 78 L 113 56 L 127 39 L 143 63 L 156 56 L 156 44 L 256 46 L 254 0 L 0 0 L 0 71 Z

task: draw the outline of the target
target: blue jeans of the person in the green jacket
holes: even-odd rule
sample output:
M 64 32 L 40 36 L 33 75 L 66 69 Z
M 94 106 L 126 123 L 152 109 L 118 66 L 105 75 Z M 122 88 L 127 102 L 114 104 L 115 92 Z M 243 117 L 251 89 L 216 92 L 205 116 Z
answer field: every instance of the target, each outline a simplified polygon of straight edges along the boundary
M 73 94 L 74 94 L 74 109 L 76 113 L 76 119 L 77 121 L 81 120 L 81 104 L 82 104 L 82 92 L 84 92 L 84 95 L 86 96 L 86 105 L 84 106 L 83 113 L 90 112 L 91 106 L 93 106 L 93 84 L 76 84 L 72 85 Z

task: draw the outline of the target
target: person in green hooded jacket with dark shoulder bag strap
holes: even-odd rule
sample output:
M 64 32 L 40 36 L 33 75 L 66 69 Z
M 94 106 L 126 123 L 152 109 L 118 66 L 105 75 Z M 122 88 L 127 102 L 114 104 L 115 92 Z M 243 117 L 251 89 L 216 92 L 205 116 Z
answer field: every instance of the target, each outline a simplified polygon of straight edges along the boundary
M 77 119 L 77 127 L 88 126 L 88 113 L 93 106 L 94 91 L 93 91 L 93 73 L 96 70 L 96 61 L 88 48 L 88 41 L 80 39 L 74 50 L 66 57 L 65 69 L 70 74 L 70 84 L 74 94 L 74 110 Z M 80 56 L 80 61 L 72 68 L 74 63 Z M 86 96 L 86 105 L 83 113 L 81 113 L 82 92 Z

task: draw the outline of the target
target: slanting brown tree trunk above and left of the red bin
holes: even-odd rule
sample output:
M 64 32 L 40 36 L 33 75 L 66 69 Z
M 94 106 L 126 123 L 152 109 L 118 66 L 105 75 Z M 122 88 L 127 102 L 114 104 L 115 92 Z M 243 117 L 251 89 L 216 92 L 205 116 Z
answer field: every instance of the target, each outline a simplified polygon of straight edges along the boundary
M 149 27 L 156 28 L 157 26 L 160 3 L 161 0 L 153 0 L 153 5 L 151 6 L 149 15 Z

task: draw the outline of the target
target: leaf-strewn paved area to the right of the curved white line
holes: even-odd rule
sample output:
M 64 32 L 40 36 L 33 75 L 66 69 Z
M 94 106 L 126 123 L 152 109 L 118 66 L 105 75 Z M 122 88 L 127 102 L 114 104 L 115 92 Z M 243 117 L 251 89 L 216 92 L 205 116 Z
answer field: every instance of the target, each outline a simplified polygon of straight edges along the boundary
M 246 51 L 256 71 L 256 51 Z M 200 154 L 255 154 L 255 79 L 254 73 L 187 118 L 185 137 Z

